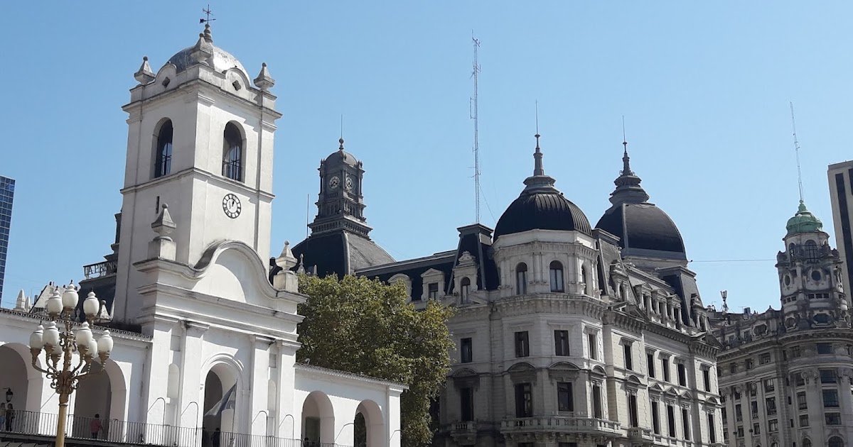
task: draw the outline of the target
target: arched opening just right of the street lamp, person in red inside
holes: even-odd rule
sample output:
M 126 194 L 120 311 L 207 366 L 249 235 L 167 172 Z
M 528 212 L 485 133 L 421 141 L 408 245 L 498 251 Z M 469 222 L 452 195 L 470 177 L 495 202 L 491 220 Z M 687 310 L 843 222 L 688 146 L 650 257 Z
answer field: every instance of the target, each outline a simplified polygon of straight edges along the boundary
M 92 363 L 89 374 L 78 382 L 74 391 L 71 433 L 77 438 L 104 439 L 113 404 L 113 387 L 109 374 L 100 363 Z

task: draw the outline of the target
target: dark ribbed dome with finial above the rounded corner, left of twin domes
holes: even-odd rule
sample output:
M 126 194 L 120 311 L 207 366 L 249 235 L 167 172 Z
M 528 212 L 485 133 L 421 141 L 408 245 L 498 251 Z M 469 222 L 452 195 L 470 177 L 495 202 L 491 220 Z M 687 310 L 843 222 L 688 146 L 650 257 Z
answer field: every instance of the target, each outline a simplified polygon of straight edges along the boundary
M 495 238 L 530 230 L 578 231 L 592 235 L 589 220 L 576 204 L 554 187 L 554 178 L 545 175 L 543 153 L 536 135 L 533 175 L 525 179 L 525 189 L 510 203 L 495 226 Z

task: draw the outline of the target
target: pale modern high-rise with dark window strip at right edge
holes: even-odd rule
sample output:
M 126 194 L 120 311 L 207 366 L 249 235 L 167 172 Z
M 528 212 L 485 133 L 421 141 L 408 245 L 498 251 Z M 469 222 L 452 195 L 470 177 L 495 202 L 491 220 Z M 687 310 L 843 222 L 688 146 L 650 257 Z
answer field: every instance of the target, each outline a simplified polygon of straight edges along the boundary
M 835 239 L 844 261 L 842 284 L 850 293 L 850 278 L 853 278 L 853 161 L 830 164 L 827 171 Z

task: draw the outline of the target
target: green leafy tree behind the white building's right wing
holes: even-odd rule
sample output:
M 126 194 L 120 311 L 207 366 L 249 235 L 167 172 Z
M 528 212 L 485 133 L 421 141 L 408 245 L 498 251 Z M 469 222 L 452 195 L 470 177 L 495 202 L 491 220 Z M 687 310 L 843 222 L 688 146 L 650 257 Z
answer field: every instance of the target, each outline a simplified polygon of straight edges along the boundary
M 415 311 L 403 284 L 345 276 L 302 275 L 299 305 L 302 347 L 298 361 L 409 385 L 401 397 L 402 443 L 429 444 L 429 407 L 450 370 L 447 320 L 452 310 L 436 302 Z

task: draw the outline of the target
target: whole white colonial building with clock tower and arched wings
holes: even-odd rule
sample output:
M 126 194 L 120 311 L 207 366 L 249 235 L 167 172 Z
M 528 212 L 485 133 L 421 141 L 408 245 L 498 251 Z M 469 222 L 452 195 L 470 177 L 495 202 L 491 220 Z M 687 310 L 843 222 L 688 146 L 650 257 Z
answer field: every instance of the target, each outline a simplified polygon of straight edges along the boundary
M 369 446 L 399 445 L 403 384 L 295 363 L 297 260 L 286 246 L 281 272 L 268 262 L 281 113 L 266 65 L 252 80 L 206 26 L 135 78 L 114 253 L 87 266 L 81 290 L 107 301 L 115 347 L 73 394 L 69 435 L 88 438 L 98 415 L 113 441 L 351 445 L 361 414 Z M 25 301 L 0 312 L 0 387 L 13 391 L 12 431 L 48 434 L 57 398 L 27 347 L 44 304 Z

